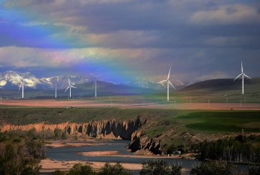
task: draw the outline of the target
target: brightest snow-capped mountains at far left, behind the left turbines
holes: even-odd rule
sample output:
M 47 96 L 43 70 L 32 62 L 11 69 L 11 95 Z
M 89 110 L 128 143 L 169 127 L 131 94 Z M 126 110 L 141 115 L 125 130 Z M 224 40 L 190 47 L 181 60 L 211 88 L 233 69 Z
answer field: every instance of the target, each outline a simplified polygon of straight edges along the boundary
M 86 82 L 84 76 L 69 76 L 74 84 L 83 84 Z M 6 71 L 0 73 L 0 86 L 5 89 L 18 89 L 24 82 L 25 88 L 29 89 L 54 89 L 57 84 L 58 89 L 64 89 L 68 86 L 68 76 L 53 76 L 49 78 L 37 78 L 33 74 L 26 72 Z

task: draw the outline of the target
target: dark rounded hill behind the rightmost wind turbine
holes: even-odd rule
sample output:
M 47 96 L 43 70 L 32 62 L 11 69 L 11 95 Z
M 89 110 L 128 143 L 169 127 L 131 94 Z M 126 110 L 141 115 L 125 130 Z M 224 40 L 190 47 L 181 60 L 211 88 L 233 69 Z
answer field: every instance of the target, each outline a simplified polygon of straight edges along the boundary
M 260 78 L 245 79 L 244 95 L 241 94 L 242 80 L 211 79 L 191 84 L 178 91 L 171 91 L 171 96 L 186 102 L 260 102 Z

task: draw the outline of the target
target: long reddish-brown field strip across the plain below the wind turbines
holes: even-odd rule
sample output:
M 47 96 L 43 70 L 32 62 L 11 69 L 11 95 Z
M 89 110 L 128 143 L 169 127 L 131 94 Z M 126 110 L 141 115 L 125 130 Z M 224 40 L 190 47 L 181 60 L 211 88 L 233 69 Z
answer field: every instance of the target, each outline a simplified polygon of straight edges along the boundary
M 107 101 L 55 100 L 55 99 L 5 99 L 3 107 L 47 107 L 47 108 L 119 108 L 119 109 L 219 109 L 219 110 L 260 110 L 260 104 L 245 103 L 109 103 Z M 0 106 L 1 106 L 0 105 Z

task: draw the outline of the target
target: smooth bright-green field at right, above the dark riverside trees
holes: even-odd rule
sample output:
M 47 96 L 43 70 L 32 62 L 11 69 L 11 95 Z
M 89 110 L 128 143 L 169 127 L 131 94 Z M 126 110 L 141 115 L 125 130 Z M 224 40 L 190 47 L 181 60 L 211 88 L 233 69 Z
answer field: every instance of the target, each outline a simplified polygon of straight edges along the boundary
M 211 132 L 260 131 L 259 111 L 201 111 L 180 116 L 188 129 Z

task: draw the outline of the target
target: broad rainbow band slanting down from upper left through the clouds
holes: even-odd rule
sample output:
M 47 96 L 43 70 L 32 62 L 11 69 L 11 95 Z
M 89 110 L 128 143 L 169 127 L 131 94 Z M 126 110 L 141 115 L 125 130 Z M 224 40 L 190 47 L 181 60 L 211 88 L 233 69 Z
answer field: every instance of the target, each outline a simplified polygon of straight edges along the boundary
M 70 31 L 71 27 L 76 26 L 57 23 L 56 19 L 44 20 L 39 13 L 9 7 L 5 1 L 0 1 L 0 8 L 1 14 L 4 14 L 0 19 L 1 33 L 4 34 L 4 37 L 1 36 L 2 42 L 34 50 L 41 55 L 35 56 L 35 61 L 46 59 L 50 66 L 56 65 L 58 69 L 59 65 L 65 64 L 66 71 L 69 69 L 75 74 L 86 75 L 88 71 L 104 74 L 103 79 L 108 81 L 131 81 L 138 76 L 127 58 L 131 49 L 94 46 L 97 41 L 102 43 L 101 39 L 94 36 L 84 38 Z

